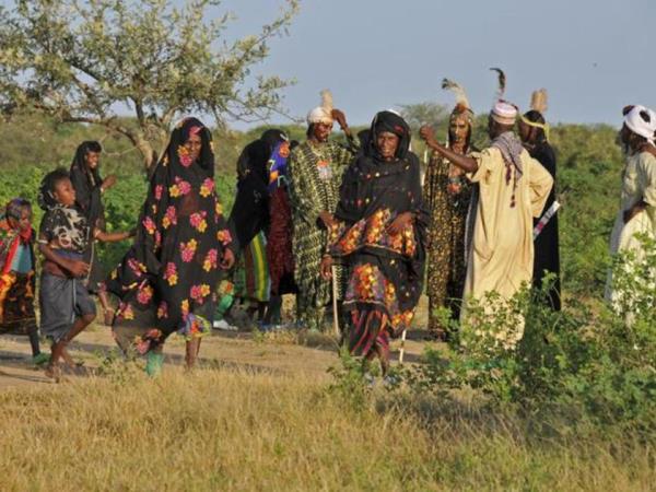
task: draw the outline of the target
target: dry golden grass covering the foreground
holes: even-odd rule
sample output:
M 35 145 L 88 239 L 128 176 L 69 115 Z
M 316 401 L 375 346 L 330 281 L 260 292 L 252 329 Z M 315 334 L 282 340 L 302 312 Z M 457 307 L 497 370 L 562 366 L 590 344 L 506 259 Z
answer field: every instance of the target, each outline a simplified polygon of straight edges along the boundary
M 9 390 L 0 409 L 3 491 L 596 491 L 656 479 L 654 449 L 628 438 L 537 446 L 503 420 L 359 408 L 303 375 L 119 370 Z

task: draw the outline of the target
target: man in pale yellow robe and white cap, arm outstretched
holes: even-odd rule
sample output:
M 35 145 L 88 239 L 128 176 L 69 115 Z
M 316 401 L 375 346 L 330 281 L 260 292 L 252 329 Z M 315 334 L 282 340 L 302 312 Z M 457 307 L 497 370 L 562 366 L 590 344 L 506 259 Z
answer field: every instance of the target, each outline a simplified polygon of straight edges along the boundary
M 421 129 L 426 144 L 479 187 L 465 297 L 480 300 L 495 291 L 509 300 L 532 278 L 532 218 L 540 216 L 553 179 L 513 132 L 516 117 L 515 106 L 497 102 L 488 120 L 492 144 L 471 156 L 449 151 L 429 127 Z

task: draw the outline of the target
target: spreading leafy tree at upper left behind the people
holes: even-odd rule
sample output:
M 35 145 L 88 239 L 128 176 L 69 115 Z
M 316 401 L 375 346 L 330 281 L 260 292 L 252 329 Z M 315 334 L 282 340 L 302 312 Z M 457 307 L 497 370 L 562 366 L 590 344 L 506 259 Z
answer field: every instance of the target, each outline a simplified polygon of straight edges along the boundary
M 253 77 L 269 40 L 286 33 L 297 0 L 257 35 L 229 43 L 234 16 L 218 0 L 16 0 L 0 7 L 0 105 L 62 122 L 99 125 L 130 140 L 149 168 L 175 117 L 196 112 L 261 120 L 280 112 L 289 81 Z M 128 107 L 134 118 L 121 118 Z

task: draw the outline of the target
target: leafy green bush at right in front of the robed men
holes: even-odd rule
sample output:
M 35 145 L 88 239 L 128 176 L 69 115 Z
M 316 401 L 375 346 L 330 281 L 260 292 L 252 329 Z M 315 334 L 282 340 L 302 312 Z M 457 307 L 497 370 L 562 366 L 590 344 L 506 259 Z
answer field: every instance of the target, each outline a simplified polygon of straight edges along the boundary
M 427 350 L 425 365 L 407 372 L 417 391 L 452 396 L 455 389 L 481 391 L 492 405 L 524 411 L 555 412 L 599 425 L 656 431 L 656 242 L 647 254 L 625 254 L 613 268 L 621 302 L 595 312 L 567 301 L 560 313 L 541 292 L 520 291 L 502 303 L 491 294 L 471 308 L 475 326 L 465 326 L 446 351 Z M 524 316 L 524 337 L 513 332 Z M 508 327 L 515 330 L 508 330 Z

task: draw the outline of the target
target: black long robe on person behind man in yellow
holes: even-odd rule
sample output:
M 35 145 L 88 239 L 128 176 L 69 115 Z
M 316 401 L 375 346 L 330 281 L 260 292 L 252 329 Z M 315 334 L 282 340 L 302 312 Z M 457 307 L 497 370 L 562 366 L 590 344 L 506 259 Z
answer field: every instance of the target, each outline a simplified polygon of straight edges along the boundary
M 531 157 L 536 159 L 549 172 L 555 183 L 555 154 L 548 142 L 537 143 L 529 149 Z M 555 201 L 555 186 L 544 203 L 544 211 Z M 534 226 L 539 222 L 539 218 L 534 219 Z M 561 288 L 560 288 L 560 250 L 558 237 L 558 212 L 551 218 L 547 225 L 540 232 L 535 241 L 535 261 L 534 261 L 534 285 L 542 286 L 544 272 L 553 273 L 555 282 L 549 291 L 548 302 L 554 311 L 561 309 Z

